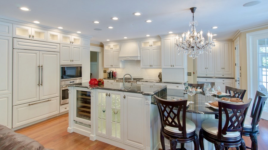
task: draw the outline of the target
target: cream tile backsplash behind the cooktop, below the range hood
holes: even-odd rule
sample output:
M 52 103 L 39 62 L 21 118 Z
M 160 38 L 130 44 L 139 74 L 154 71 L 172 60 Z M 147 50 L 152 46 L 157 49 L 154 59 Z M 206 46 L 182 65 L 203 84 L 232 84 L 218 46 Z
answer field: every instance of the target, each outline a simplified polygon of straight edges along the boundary
M 162 71 L 161 68 L 141 68 L 140 61 L 125 61 L 125 68 L 109 68 L 116 71 L 116 77 L 122 78 L 124 74 L 131 74 L 132 77 L 144 79 L 158 79 L 158 74 Z

